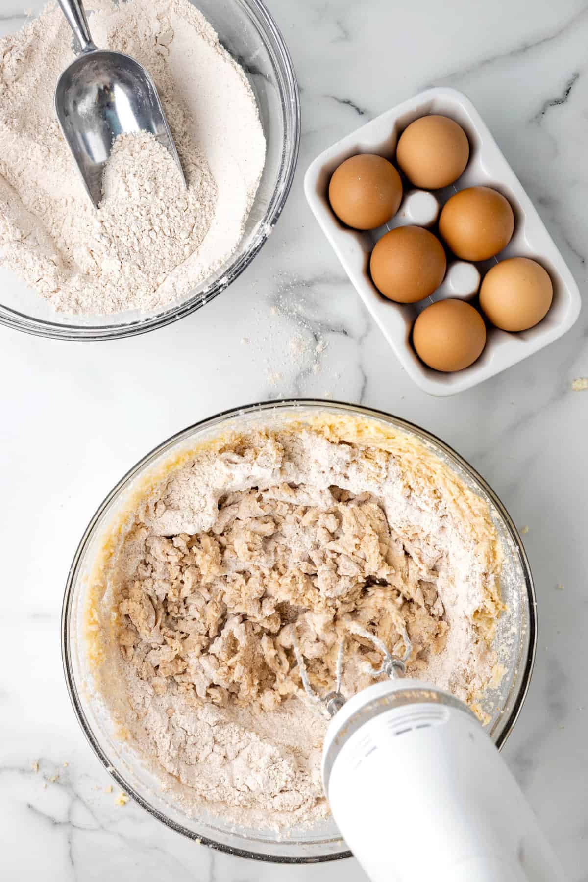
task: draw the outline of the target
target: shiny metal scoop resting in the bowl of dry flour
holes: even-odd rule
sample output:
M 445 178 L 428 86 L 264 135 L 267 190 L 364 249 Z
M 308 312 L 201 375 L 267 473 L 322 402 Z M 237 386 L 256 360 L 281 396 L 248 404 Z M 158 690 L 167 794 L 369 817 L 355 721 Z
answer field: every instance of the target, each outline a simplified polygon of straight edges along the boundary
M 56 115 L 94 206 L 102 198 L 102 176 L 112 145 L 123 132 L 151 132 L 174 157 L 185 186 L 152 78 L 134 58 L 96 49 L 81 0 L 59 0 L 59 5 L 81 52 L 57 80 Z

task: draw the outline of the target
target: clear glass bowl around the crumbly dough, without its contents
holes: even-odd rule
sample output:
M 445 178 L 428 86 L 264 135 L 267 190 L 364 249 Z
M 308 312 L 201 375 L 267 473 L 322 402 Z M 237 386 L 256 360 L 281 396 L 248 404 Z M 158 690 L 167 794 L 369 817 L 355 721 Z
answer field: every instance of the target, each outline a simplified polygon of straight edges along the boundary
M 350 853 L 331 820 L 310 829 L 291 830 L 287 837 L 279 839 L 268 830 L 223 823 L 221 818 L 209 816 L 205 811 L 198 811 L 197 817 L 188 817 L 171 796 L 161 791 L 160 781 L 139 759 L 132 746 L 116 737 L 108 709 L 93 692 L 83 628 L 86 587 L 108 528 L 117 514 L 126 512 L 139 482 L 143 486 L 151 478 L 157 480 L 156 476 L 165 463 L 227 430 L 243 430 L 256 423 L 275 426 L 294 416 L 300 420 L 304 415 L 319 413 L 375 420 L 417 437 L 475 493 L 487 500 L 504 552 L 501 590 L 507 605 L 499 620 L 495 639 L 499 661 L 504 665 L 506 674 L 495 692 L 489 695 L 494 710 L 488 723 L 488 733 L 500 748 L 514 726 L 525 699 L 535 653 L 535 594 L 525 549 L 508 512 L 483 478 L 443 441 L 396 416 L 332 401 L 270 401 L 226 411 L 179 432 L 131 468 L 100 505 L 79 543 L 63 601 L 63 667 L 71 702 L 93 751 L 119 786 L 155 818 L 190 839 L 231 854 L 278 863 L 315 863 L 346 857 Z

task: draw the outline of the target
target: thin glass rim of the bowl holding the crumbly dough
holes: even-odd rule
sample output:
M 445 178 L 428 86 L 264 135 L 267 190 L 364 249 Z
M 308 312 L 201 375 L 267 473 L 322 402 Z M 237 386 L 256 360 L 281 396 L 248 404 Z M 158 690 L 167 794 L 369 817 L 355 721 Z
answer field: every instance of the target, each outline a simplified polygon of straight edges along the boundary
M 150 452 L 146 453 L 145 456 L 141 457 L 141 459 L 138 460 L 138 462 L 134 466 L 130 467 L 130 469 L 120 479 L 120 481 L 116 482 L 115 487 L 110 490 L 106 497 L 104 497 L 104 499 L 94 512 L 93 517 L 90 519 L 86 530 L 84 531 L 84 534 L 82 535 L 82 538 L 78 543 L 78 548 L 76 549 L 74 557 L 71 561 L 71 566 L 65 585 L 65 591 L 63 594 L 61 616 L 61 650 L 65 683 L 70 696 L 71 705 L 78 720 L 78 724 L 82 729 L 84 735 L 86 736 L 86 741 L 88 742 L 88 744 L 90 744 L 93 752 L 98 757 L 98 759 L 100 759 L 101 764 L 106 768 L 108 774 L 110 774 L 115 779 L 119 787 L 121 787 L 123 790 L 129 793 L 130 796 L 132 796 L 135 802 L 141 805 L 142 808 L 145 809 L 145 811 L 153 816 L 153 818 L 157 818 L 157 820 L 159 820 L 162 824 L 165 824 L 167 827 L 175 830 L 176 833 L 182 833 L 182 835 L 188 837 L 192 841 L 198 841 L 200 844 L 209 846 L 210 848 L 214 848 L 228 855 L 246 857 L 252 860 L 262 861 L 264 863 L 326 863 L 329 861 L 351 857 L 352 853 L 351 851 L 346 849 L 335 852 L 333 854 L 316 856 L 264 855 L 259 852 L 249 851 L 247 848 L 239 848 L 236 846 L 226 845 L 222 842 L 217 842 L 201 833 L 194 833 L 187 827 L 182 826 L 182 824 L 177 823 L 172 818 L 168 818 L 162 812 L 155 809 L 152 804 L 148 803 L 143 796 L 141 796 L 132 786 L 130 786 L 129 782 L 124 779 L 123 775 L 119 774 L 119 772 L 111 764 L 106 753 L 100 747 L 97 738 L 94 736 L 92 727 L 89 725 L 86 719 L 86 713 L 79 699 L 78 687 L 75 683 L 72 670 L 72 635 L 70 630 L 71 605 L 73 602 L 74 587 L 77 581 L 78 567 L 84 557 L 86 548 L 93 539 L 94 528 L 100 521 L 102 513 L 107 508 L 109 503 L 118 495 L 118 493 L 123 490 L 124 486 L 128 482 L 130 482 L 130 480 L 132 480 L 132 478 L 134 478 L 136 475 L 139 475 L 142 469 L 151 460 L 154 460 L 157 456 L 159 456 L 160 452 L 164 451 L 169 446 L 175 445 L 176 443 L 181 441 L 183 437 L 190 437 L 190 435 L 193 435 L 195 432 L 205 430 L 207 426 L 212 426 L 225 422 L 226 420 L 233 417 L 252 414 L 261 415 L 266 411 L 293 409 L 296 410 L 298 408 L 303 411 L 305 407 L 324 407 L 325 409 L 328 409 L 329 407 L 337 408 L 339 409 L 339 411 L 351 413 L 354 415 L 367 416 L 383 422 L 392 421 L 397 423 L 399 429 L 402 430 L 406 428 L 407 430 L 413 432 L 413 434 L 415 434 L 417 437 L 420 437 L 421 440 L 429 443 L 432 442 L 433 445 L 438 446 L 445 454 L 447 454 L 450 460 L 455 460 L 458 465 L 464 468 L 465 472 L 473 478 L 474 482 L 477 482 L 480 485 L 481 490 L 483 490 L 488 495 L 488 498 L 490 499 L 492 505 L 495 506 L 495 509 L 500 515 L 504 526 L 506 527 L 506 530 L 510 535 L 510 539 L 514 543 L 517 553 L 520 557 L 523 571 L 525 572 L 525 588 L 527 600 L 529 603 L 529 642 L 525 657 L 524 670 L 521 677 L 521 684 L 518 689 L 517 696 L 513 702 L 513 706 L 510 710 L 509 717 L 503 726 L 502 732 L 495 741 L 496 748 L 499 751 L 502 750 L 503 745 L 506 743 L 507 738 L 510 736 L 510 732 L 517 722 L 517 719 L 521 713 L 521 709 L 525 703 L 525 699 L 529 691 L 529 686 L 531 684 L 532 670 L 535 663 L 535 655 L 537 649 L 537 598 L 532 579 L 531 566 L 529 564 L 529 560 L 525 552 L 525 547 L 520 538 L 520 535 L 518 534 L 517 527 L 515 526 L 514 521 L 510 518 L 510 514 L 509 512 L 507 512 L 500 498 L 496 496 L 495 491 L 492 490 L 492 488 L 477 472 L 477 470 L 473 468 L 473 466 L 471 466 L 469 462 L 467 462 L 467 460 L 465 460 L 458 452 L 453 450 L 453 448 L 450 445 L 446 444 L 441 438 L 436 437 L 432 432 L 429 432 L 426 429 L 422 429 L 421 426 L 417 425 L 416 423 L 410 422 L 409 420 L 405 420 L 403 417 L 389 414 L 386 411 L 374 407 L 364 407 L 363 405 L 355 405 L 347 401 L 306 398 L 277 399 L 268 401 L 257 401 L 248 405 L 243 405 L 242 407 L 229 407 L 225 410 L 221 410 L 218 414 L 205 417 L 205 419 L 198 420 L 197 422 L 192 423 L 190 426 L 187 426 L 185 429 L 175 432 L 170 437 L 167 437 L 165 441 L 153 447 L 153 449 Z M 343 840 L 341 839 L 341 841 Z

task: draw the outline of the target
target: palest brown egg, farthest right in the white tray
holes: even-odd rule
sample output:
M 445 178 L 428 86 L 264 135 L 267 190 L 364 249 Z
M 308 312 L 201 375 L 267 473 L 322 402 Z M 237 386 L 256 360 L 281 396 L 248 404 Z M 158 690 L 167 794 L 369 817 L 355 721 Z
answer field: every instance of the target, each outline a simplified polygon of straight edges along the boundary
M 502 331 L 526 331 L 545 318 L 554 298 L 549 273 L 530 258 L 501 260 L 482 280 L 480 307 Z

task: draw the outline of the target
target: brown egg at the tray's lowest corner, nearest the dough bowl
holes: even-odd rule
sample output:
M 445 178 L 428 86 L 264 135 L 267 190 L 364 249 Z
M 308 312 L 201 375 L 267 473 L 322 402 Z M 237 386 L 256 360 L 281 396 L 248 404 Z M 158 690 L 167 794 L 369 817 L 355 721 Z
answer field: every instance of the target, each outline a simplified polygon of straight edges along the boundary
M 463 300 L 431 303 L 413 325 L 413 345 L 429 368 L 450 373 L 480 357 L 486 325 L 478 310 Z

